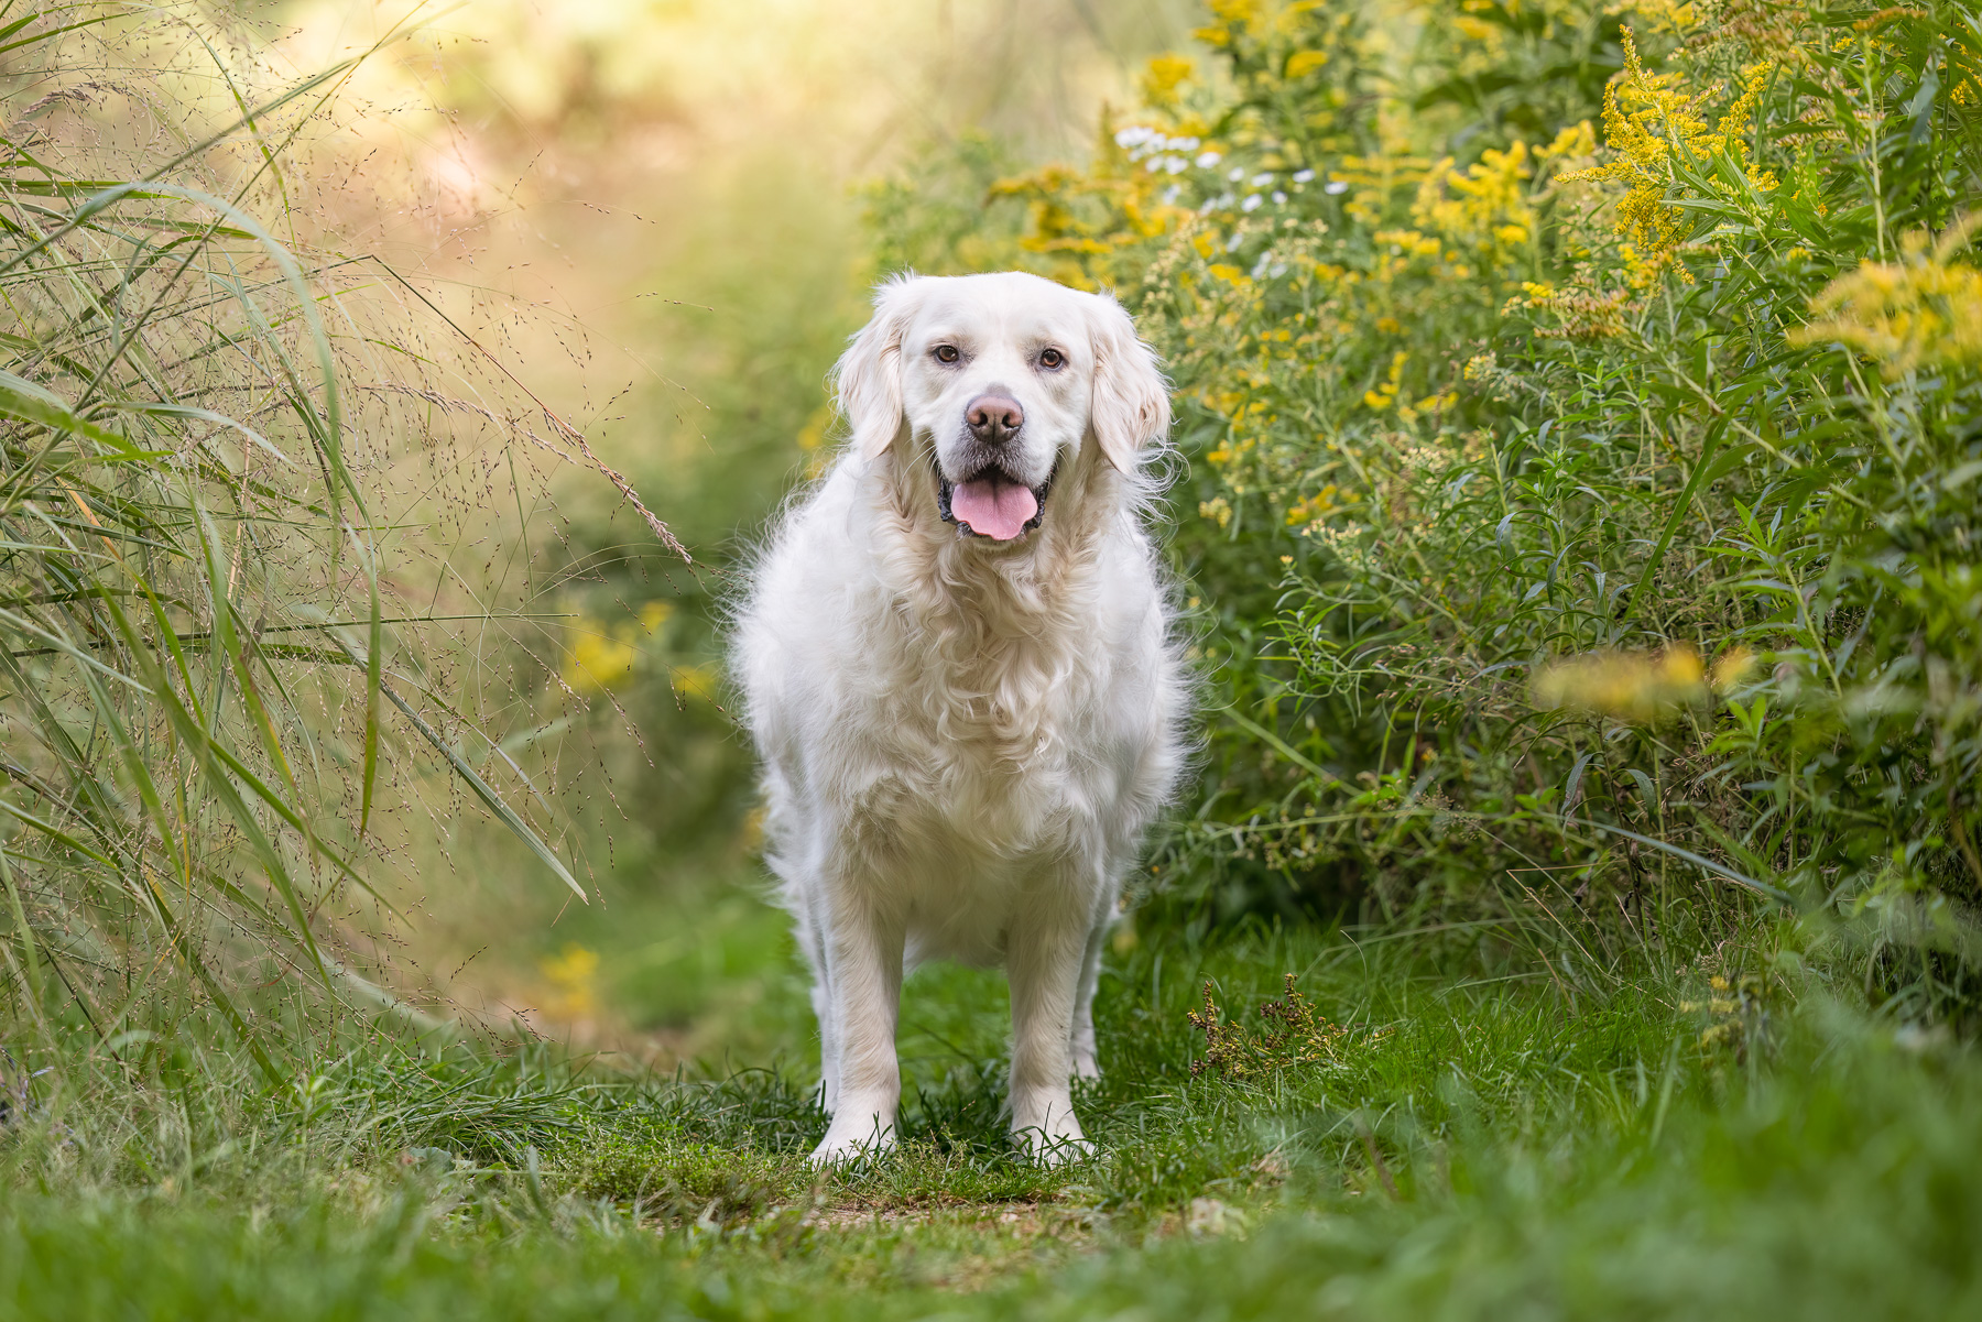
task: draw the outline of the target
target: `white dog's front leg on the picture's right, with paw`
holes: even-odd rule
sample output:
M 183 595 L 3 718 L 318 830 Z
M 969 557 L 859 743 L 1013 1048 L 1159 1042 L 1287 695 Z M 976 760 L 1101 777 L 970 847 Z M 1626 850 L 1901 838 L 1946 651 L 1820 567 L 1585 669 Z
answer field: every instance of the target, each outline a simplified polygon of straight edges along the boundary
M 1043 1161 L 1066 1161 L 1088 1152 L 1068 1086 L 1086 945 L 1086 912 L 1058 888 L 1029 896 L 1007 937 L 1011 1132 Z

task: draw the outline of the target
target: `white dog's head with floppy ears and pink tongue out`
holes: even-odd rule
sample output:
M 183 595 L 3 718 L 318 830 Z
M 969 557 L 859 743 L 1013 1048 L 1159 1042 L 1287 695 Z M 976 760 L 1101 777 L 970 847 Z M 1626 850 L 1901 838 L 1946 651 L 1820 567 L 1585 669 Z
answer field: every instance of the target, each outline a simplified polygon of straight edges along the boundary
M 1122 305 L 1021 272 L 884 283 L 834 377 L 860 458 L 906 442 L 896 460 L 930 466 L 936 513 L 999 543 L 1041 525 L 1084 446 L 1128 474 L 1169 430 L 1156 353 Z

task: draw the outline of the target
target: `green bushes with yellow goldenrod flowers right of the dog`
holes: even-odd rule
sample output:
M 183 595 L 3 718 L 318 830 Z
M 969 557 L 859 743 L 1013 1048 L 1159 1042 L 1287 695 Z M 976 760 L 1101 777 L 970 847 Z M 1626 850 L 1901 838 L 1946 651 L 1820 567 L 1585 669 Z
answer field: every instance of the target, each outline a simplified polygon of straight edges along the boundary
M 1496 912 L 1542 868 L 1592 914 L 1970 912 L 1972 16 L 1411 14 L 1219 0 L 971 232 L 1116 287 L 1173 373 L 1195 900 Z

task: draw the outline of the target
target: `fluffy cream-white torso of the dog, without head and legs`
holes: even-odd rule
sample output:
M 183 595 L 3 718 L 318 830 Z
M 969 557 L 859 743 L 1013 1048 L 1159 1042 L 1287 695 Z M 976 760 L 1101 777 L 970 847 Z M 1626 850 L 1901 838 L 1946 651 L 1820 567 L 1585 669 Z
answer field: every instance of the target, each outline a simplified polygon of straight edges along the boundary
M 1108 908 L 1173 779 L 1154 559 L 1128 519 L 1078 517 L 1080 474 L 1005 557 L 850 478 L 793 517 L 743 620 L 769 858 L 900 914 L 910 963 L 995 963 L 1021 906 Z

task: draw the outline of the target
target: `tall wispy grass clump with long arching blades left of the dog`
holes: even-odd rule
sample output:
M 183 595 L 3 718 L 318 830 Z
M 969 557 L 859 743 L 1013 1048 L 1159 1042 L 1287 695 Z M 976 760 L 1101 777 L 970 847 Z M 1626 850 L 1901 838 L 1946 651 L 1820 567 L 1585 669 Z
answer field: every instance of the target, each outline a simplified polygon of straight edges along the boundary
M 277 1082 L 345 1005 L 420 1017 L 381 878 L 422 817 L 480 805 L 583 898 L 478 727 L 529 620 L 476 541 L 533 454 L 597 462 L 416 285 L 311 246 L 295 155 L 363 55 L 272 87 L 190 6 L 0 30 L 12 1041 L 238 1039 Z

